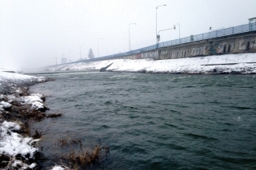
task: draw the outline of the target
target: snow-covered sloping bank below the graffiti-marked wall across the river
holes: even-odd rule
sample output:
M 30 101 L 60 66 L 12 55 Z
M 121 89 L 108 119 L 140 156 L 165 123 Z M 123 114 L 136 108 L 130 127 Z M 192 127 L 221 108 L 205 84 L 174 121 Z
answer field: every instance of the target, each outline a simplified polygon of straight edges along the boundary
M 113 63 L 112 65 L 110 65 Z M 208 57 L 187 57 L 168 60 L 115 59 L 57 65 L 48 71 L 99 70 L 141 73 L 256 73 L 256 53 L 238 53 Z

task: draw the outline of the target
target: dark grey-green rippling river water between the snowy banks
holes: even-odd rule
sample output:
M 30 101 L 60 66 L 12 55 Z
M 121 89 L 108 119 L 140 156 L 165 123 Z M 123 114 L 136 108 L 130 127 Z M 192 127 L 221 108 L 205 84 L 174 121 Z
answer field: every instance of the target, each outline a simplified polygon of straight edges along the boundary
M 256 169 L 256 76 L 149 73 L 46 74 L 60 118 L 43 131 L 43 167 L 61 164 L 63 136 L 83 147 L 108 146 L 92 169 Z

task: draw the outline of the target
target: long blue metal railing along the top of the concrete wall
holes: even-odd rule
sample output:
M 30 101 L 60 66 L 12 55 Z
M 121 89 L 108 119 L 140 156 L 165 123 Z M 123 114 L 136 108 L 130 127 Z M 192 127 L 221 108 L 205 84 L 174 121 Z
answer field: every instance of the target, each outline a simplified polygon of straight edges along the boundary
M 125 53 L 115 53 L 112 55 L 108 55 L 108 56 L 104 56 L 104 57 L 96 57 L 96 58 L 92 58 L 92 59 L 84 60 L 84 61 L 100 61 L 100 60 L 112 59 L 112 58 L 123 57 L 123 56 L 128 56 L 128 55 L 134 55 L 136 53 L 142 53 L 145 51 L 150 51 L 150 50 L 154 50 L 154 49 L 158 49 L 158 48 L 162 48 L 162 47 L 166 47 L 166 46 L 170 46 L 170 45 L 184 44 L 187 42 L 197 42 L 197 41 L 206 40 L 206 39 L 210 39 L 210 38 L 218 38 L 218 37 L 223 37 L 223 36 L 232 35 L 232 34 L 246 33 L 246 32 L 250 32 L 250 31 L 254 31 L 254 30 L 256 30 L 256 23 L 246 24 L 246 25 L 242 25 L 242 26 L 234 26 L 234 27 L 230 27 L 230 28 L 226 28 L 226 29 L 222 29 L 222 30 L 210 31 L 210 32 L 204 33 L 204 34 L 197 34 L 197 35 L 193 35 L 193 36 L 186 37 L 186 38 L 179 38 L 176 40 L 161 42 L 156 45 L 146 46 L 141 49 L 134 49 L 134 50 L 131 50 L 131 51 L 128 51 Z M 76 61 L 76 62 L 80 62 L 80 61 Z

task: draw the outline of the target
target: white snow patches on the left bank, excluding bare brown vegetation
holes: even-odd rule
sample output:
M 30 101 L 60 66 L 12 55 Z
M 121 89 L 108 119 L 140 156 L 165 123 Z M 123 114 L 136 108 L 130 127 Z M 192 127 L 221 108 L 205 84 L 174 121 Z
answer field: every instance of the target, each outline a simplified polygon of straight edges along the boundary
M 0 70 L 0 90 L 10 88 L 11 90 L 14 90 L 14 92 L 21 94 L 22 89 L 18 88 L 17 84 L 30 83 L 31 81 L 46 81 L 46 77 L 26 76 L 19 73 L 6 73 Z M 0 94 L 0 113 L 5 113 L 4 109 L 10 108 L 10 103 L 13 101 L 17 101 L 22 105 L 31 105 L 31 109 L 42 109 L 44 108 L 43 100 L 44 96 L 39 93 L 34 93 L 25 97 L 17 96 L 17 94 L 16 96 L 15 94 Z M 6 169 L 27 169 L 37 166 L 35 163 L 27 164 L 22 160 L 16 160 L 15 156 L 17 155 L 21 155 L 26 160 L 34 159 L 35 152 L 38 152 L 38 148 L 34 148 L 33 144 L 38 142 L 39 139 L 33 139 L 31 137 L 25 137 L 18 134 L 21 129 L 21 125 L 22 123 L 17 121 L 3 121 L 0 123 L 0 155 L 4 154 L 6 156 L 10 156 L 10 161 L 7 164 Z

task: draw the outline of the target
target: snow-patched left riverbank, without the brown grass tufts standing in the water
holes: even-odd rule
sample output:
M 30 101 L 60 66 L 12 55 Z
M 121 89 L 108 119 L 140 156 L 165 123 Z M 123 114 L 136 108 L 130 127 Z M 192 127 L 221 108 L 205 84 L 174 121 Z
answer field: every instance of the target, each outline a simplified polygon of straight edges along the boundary
M 34 169 L 38 136 L 30 134 L 28 121 L 40 119 L 47 108 L 42 94 L 28 93 L 27 85 L 46 81 L 46 77 L 31 77 L 0 71 L 0 168 Z

